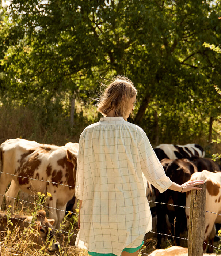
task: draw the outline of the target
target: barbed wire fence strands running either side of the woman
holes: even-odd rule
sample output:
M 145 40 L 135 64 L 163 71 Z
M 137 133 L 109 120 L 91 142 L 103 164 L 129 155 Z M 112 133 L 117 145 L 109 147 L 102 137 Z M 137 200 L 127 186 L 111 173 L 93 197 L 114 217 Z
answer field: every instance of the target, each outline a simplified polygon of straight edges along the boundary
M 3 172 L 0 171 L 0 175 L 1 175 L 1 173 L 3 173 Z M 11 174 L 11 173 L 4 173 L 4 174 L 8 174 L 8 175 L 11 175 L 11 176 L 16 176 L 17 178 L 26 178 L 26 179 L 28 179 L 28 180 L 47 182 L 47 183 L 54 184 L 54 185 L 61 185 L 61 186 L 66 186 L 66 187 L 75 188 L 74 186 L 70 186 L 70 185 L 66 185 L 66 184 L 60 184 L 60 183 L 52 182 L 52 181 L 49 181 L 49 180 L 45 181 L 45 180 L 40 180 L 40 179 L 35 179 L 35 178 L 23 177 L 23 176 L 16 175 L 16 174 Z M 18 198 L 16 198 L 16 197 L 5 196 L 4 194 L 1 194 L 1 193 L 0 193 L 0 196 L 8 197 L 8 198 L 14 199 L 14 200 L 19 200 L 20 202 L 23 202 L 23 203 L 39 205 L 39 206 L 41 206 L 41 207 L 48 208 L 48 209 L 52 208 L 53 210 L 67 212 L 66 210 L 62 210 L 62 209 L 59 209 L 59 208 L 49 207 L 49 206 L 47 206 L 47 205 L 42 205 L 42 204 L 39 204 L 39 203 L 30 202 L 30 201 L 23 200 L 23 199 L 18 199 Z M 173 206 L 173 207 L 190 208 L 190 207 L 180 206 L 180 205 L 176 205 L 176 204 L 169 204 L 169 203 L 163 203 L 163 202 L 155 202 L 155 201 L 152 201 L 152 200 L 148 200 L 148 202 L 149 202 L 149 203 L 156 203 L 156 204 L 164 204 L 164 205 Z M 69 212 L 71 212 L 71 214 L 73 214 L 73 215 L 79 215 L 77 212 L 73 212 L 73 211 L 69 211 Z M 221 215 L 221 214 L 218 214 L 218 213 L 212 212 L 212 211 L 207 211 L 207 210 L 206 210 L 206 212 L 209 212 L 209 213 L 212 213 L 212 214 L 216 214 L 216 215 Z M 4 214 L 4 213 L 1 213 L 1 214 L 7 216 L 7 214 Z M 13 216 L 11 216 L 11 218 L 14 218 L 14 219 L 17 219 L 17 220 L 20 221 L 19 218 L 16 218 L 16 217 L 13 217 Z M 24 222 L 27 222 L 27 223 L 30 224 L 30 222 L 28 222 L 28 221 L 24 221 Z M 48 228 L 47 226 L 43 226 L 43 225 L 40 225 L 40 224 L 36 224 L 36 225 L 39 225 L 39 226 L 41 226 L 41 227 L 46 227 L 46 228 Z M 70 232 L 65 231 L 65 230 L 60 230 L 60 229 L 56 229 L 56 228 L 52 228 L 52 230 L 54 230 L 54 231 L 59 231 L 59 232 L 61 232 L 61 233 L 69 234 L 69 235 L 72 235 L 72 236 L 77 236 L 77 234 L 75 234 L 75 233 L 70 233 Z M 154 231 L 150 231 L 150 233 L 153 233 L 153 234 L 160 234 L 161 236 L 168 236 L 168 237 L 172 237 L 172 238 L 179 238 L 179 239 L 188 241 L 188 238 L 182 238 L 182 237 L 177 237 L 177 236 L 173 236 L 173 235 L 169 235 L 169 234 L 163 234 L 163 233 L 157 233 L 157 232 L 154 232 Z M 214 249 L 220 250 L 220 248 L 218 248 L 218 247 L 216 247 L 216 246 L 213 246 L 213 245 L 211 245 L 211 244 L 207 244 L 206 242 L 203 242 L 203 243 L 204 243 L 205 245 L 208 245 L 208 246 L 214 248 Z M 0 246 L 1 246 L 1 247 L 5 247 L 5 248 L 7 248 L 7 249 L 11 249 L 12 251 L 18 252 L 18 253 L 20 253 L 21 255 L 30 255 L 30 254 L 28 254 L 28 253 L 24 253 L 24 252 L 18 251 L 18 250 L 14 249 L 14 248 L 8 248 L 8 246 L 4 246 L 4 245 L 1 245 L 1 244 L 0 244 Z M 140 253 L 141 253 L 142 255 L 152 256 L 151 254 L 148 254 L 148 253 L 144 253 L 144 252 L 140 252 Z M 30 255 L 30 256 L 32 256 L 32 255 Z

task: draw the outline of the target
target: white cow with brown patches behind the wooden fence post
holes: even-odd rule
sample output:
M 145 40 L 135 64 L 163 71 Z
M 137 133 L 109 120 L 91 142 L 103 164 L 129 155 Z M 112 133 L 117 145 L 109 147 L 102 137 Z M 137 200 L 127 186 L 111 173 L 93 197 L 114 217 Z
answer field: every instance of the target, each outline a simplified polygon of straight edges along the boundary
M 205 180 L 206 182 L 206 211 L 205 212 L 205 227 L 204 227 L 204 242 L 213 245 L 213 239 L 216 234 L 215 223 L 221 223 L 221 172 L 209 172 L 203 170 L 192 174 L 190 180 Z M 190 191 L 186 193 L 186 207 L 190 207 Z M 216 214 L 217 213 L 217 214 Z M 186 208 L 187 224 L 190 218 L 190 209 Z M 204 252 L 213 252 L 213 247 L 203 244 Z

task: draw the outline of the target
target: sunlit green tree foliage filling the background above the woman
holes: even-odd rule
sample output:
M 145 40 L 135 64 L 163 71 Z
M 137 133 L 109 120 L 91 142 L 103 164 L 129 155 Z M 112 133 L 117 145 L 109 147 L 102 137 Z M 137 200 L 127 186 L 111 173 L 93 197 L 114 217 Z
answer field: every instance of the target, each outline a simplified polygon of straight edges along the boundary
M 130 121 L 153 142 L 196 141 L 220 113 L 220 11 L 220 1 L 11 1 L 0 13 L 0 101 L 31 105 L 49 131 L 69 118 L 72 95 L 93 103 L 100 77 L 123 74 L 138 90 Z

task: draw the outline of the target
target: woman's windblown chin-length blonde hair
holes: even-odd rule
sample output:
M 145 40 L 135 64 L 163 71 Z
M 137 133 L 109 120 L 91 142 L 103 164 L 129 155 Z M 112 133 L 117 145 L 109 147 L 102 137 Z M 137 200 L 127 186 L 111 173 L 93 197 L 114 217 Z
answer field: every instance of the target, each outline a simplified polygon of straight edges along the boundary
M 106 117 L 115 108 L 114 116 L 122 116 L 127 120 L 130 114 L 129 99 L 135 95 L 137 95 L 137 90 L 129 78 L 115 76 L 98 99 L 97 110 Z

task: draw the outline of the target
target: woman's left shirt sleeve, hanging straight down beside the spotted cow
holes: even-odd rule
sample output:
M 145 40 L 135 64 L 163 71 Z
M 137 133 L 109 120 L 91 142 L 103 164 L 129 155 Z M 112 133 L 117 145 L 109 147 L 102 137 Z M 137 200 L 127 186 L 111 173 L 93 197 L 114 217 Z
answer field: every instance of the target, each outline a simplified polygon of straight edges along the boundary
M 75 196 L 82 200 L 84 188 L 84 137 L 81 134 L 79 139 L 79 151 L 77 157 L 77 174 L 75 184 Z

